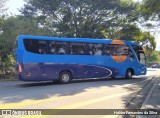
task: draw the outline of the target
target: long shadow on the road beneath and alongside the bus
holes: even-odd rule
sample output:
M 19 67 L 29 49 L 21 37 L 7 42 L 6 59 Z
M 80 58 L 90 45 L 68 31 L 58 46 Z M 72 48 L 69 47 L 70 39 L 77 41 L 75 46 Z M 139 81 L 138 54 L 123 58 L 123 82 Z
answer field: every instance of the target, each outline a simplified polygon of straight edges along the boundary
M 55 96 L 72 96 L 85 92 L 88 89 L 115 87 L 135 83 L 146 78 L 126 79 L 88 79 L 74 80 L 70 84 L 58 84 L 54 82 L 9 82 L 1 86 L 0 101 L 3 103 L 16 103 L 24 100 L 41 100 Z

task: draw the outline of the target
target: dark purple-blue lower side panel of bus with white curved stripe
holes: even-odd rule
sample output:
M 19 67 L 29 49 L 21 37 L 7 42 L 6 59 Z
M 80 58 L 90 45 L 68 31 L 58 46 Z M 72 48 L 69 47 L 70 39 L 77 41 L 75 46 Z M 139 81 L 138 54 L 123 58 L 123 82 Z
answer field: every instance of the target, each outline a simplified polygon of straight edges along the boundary
M 104 78 L 117 74 L 113 68 L 81 64 L 28 63 L 23 67 L 20 79 L 26 81 L 58 80 L 62 71 L 70 71 L 73 79 Z

